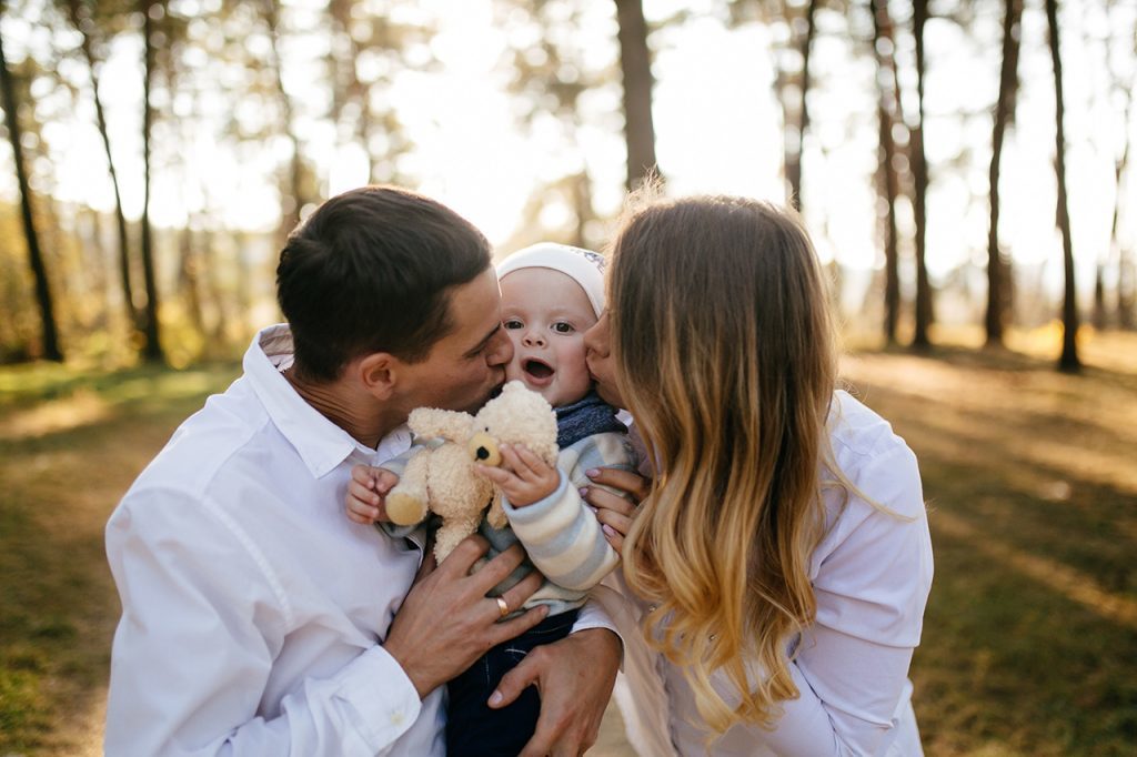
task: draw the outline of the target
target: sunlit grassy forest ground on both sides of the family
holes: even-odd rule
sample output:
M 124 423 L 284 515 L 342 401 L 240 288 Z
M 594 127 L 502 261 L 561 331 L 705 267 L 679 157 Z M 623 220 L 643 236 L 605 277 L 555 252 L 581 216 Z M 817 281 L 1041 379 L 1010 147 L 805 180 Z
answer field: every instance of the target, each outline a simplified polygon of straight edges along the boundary
M 1137 752 L 1137 336 L 1085 348 L 1082 376 L 1029 344 L 846 360 L 929 500 L 912 668 L 929 755 Z M 238 369 L 0 369 L 0 755 L 101 754 L 119 612 L 103 524 Z

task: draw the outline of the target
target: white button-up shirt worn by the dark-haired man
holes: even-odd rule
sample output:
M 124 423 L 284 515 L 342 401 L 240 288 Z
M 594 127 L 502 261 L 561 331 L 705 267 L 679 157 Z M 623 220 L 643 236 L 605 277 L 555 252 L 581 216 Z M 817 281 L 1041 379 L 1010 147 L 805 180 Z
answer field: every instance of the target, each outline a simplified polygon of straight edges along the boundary
M 262 331 L 244 375 L 189 418 L 107 525 L 123 601 L 108 755 L 442 755 L 445 688 L 422 701 L 380 646 L 422 559 L 421 540 L 347 518 L 372 450 L 281 375 L 284 325 Z M 575 630 L 611 627 L 586 606 Z

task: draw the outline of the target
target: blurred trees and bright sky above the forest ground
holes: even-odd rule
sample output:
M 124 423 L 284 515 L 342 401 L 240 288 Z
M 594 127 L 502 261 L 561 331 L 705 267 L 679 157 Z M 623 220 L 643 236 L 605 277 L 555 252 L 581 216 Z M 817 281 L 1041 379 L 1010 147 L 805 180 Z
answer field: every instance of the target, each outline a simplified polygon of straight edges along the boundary
M 0 360 L 236 353 L 395 182 L 503 252 L 625 185 L 798 205 L 850 327 L 1135 325 L 1131 0 L 3 3 Z M 1061 30 L 1061 32 L 1060 32 Z M 1063 84 L 1065 84 L 1063 86 Z M 1056 355 L 1056 357 L 1057 357 Z

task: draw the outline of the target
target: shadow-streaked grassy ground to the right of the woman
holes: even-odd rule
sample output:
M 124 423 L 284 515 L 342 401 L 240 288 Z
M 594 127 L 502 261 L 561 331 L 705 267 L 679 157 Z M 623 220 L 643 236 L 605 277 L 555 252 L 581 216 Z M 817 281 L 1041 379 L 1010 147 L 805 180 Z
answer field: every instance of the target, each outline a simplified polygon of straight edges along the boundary
M 1135 754 L 1137 376 L 949 349 L 847 367 L 930 501 L 912 669 L 927 752 Z

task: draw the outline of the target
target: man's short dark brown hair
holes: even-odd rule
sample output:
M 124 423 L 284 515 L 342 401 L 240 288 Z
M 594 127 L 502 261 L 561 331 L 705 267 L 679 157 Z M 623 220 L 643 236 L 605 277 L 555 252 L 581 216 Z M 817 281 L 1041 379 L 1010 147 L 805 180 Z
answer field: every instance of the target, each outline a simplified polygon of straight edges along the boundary
M 352 358 L 426 358 L 454 327 L 454 286 L 490 265 L 490 246 L 446 206 L 393 186 L 324 202 L 289 236 L 276 299 L 307 378 L 333 381 Z

